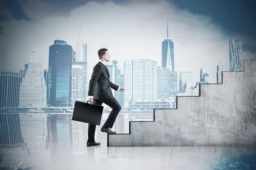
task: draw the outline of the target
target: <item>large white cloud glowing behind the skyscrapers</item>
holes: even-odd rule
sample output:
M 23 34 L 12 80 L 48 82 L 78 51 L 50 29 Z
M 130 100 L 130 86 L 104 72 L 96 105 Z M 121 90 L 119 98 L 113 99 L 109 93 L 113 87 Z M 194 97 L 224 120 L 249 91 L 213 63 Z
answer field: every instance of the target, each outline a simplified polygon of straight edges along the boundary
M 39 59 L 47 68 L 49 46 L 59 39 L 67 40 L 76 49 L 80 25 L 82 38 L 88 44 L 89 77 L 98 61 L 100 44 L 108 44 L 111 59 L 119 63 L 148 58 L 161 65 L 161 46 L 167 36 L 168 21 L 169 39 L 174 41 L 176 71 L 194 72 L 196 82 L 199 81 L 200 68 L 205 67 L 209 83 L 216 82 L 220 59 L 224 71 L 229 71 L 228 40 L 231 37 L 225 36 L 224 31 L 209 17 L 177 9 L 171 3 L 133 1 L 116 5 L 113 2 L 90 2 L 63 16 L 60 10 L 60 14 L 53 15 L 51 6 L 40 4 L 22 4 L 25 14 L 32 21 L 12 19 L 1 22 L 1 70 L 18 72 L 22 69 L 29 62 L 31 47 L 39 49 Z M 47 11 L 43 10 L 45 7 Z M 245 58 L 247 55 L 255 58 L 255 54 L 243 52 Z

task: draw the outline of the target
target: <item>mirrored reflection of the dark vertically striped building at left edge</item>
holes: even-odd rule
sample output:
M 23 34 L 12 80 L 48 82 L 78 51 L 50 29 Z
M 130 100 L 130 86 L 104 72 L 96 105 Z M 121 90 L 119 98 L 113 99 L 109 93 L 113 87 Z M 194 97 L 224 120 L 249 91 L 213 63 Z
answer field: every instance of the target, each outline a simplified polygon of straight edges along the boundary
M 17 147 L 22 147 L 19 114 L 0 113 L 0 148 Z

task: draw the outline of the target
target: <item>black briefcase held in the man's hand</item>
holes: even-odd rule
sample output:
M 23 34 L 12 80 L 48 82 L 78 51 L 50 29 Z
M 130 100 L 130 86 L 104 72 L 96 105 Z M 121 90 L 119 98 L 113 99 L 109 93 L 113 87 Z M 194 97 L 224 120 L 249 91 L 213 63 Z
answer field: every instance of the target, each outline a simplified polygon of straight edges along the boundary
M 102 118 L 103 106 L 76 101 L 73 111 L 72 120 L 81 121 L 89 124 L 100 125 Z

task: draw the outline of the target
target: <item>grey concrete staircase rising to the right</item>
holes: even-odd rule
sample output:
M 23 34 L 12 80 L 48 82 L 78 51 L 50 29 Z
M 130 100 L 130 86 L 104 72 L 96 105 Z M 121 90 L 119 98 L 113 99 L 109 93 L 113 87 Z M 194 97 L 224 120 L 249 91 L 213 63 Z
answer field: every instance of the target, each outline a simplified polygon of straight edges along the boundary
M 256 145 L 256 60 L 222 79 L 177 97 L 177 109 L 154 109 L 153 121 L 130 121 L 129 134 L 108 135 L 108 147 Z

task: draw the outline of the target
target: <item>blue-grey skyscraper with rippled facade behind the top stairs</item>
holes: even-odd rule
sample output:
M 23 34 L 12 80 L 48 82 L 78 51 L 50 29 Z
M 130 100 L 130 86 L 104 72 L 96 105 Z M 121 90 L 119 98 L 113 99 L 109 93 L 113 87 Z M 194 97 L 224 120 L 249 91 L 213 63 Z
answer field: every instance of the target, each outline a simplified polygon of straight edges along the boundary
M 242 62 L 242 43 L 241 40 L 229 40 L 230 50 L 230 72 L 244 71 Z

